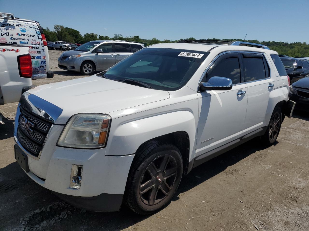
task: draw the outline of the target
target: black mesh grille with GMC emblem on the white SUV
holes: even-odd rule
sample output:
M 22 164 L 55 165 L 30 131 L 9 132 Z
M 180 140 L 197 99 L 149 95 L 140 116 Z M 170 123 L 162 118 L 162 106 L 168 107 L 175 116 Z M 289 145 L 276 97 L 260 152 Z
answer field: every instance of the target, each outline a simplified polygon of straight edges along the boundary
M 52 123 L 28 113 L 23 107 L 19 107 L 19 109 L 21 114 L 18 119 L 19 125 L 17 127 L 17 139 L 23 148 L 30 152 L 31 155 L 38 157 Z M 22 117 L 25 117 L 28 122 L 33 124 L 33 129 L 30 130 L 27 126 L 25 126 L 26 128 L 23 128 L 21 123 Z

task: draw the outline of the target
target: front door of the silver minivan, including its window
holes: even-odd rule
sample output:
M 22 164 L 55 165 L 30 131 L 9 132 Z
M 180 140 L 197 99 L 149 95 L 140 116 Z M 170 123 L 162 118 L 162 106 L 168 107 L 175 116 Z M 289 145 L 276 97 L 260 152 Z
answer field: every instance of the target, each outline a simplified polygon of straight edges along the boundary
M 103 52 L 98 52 L 101 49 Z M 115 64 L 115 52 L 113 52 L 113 43 L 103 43 L 95 49 L 95 59 L 98 70 L 105 71 Z

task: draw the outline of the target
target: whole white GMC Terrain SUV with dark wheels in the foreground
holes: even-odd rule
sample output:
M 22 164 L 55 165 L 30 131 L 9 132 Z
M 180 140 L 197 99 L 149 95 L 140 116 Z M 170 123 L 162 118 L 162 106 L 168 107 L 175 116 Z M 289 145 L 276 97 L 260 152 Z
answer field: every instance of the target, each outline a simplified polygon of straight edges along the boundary
M 197 165 L 256 136 L 273 144 L 292 111 L 277 52 L 223 43 L 155 44 L 97 75 L 25 92 L 15 159 L 78 207 L 162 208 Z

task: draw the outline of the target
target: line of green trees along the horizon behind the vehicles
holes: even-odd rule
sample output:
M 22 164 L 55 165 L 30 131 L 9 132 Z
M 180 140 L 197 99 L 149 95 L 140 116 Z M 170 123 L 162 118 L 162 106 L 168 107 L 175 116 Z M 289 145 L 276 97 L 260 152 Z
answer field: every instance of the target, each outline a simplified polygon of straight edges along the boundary
M 156 44 L 156 43 L 175 43 L 179 40 L 171 41 L 164 39 L 163 41 L 153 38 L 153 39 L 141 39 L 138 35 L 126 36 L 122 34 L 114 34 L 113 37 L 107 35 L 98 35 L 95 33 L 86 33 L 81 35 L 78 30 L 73 28 L 64 27 L 62 25 L 54 25 L 53 30 L 50 30 L 48 27 L 43 28 L 45 37 L 47 41 L 65 41 L 68 43 L 87 43 L 93 40 L 127 40 L 144 43 L 146 46 Z M 187 39 L 195 39 L 193 37 Z M 215 38 L 213 38 L 215 39 Z M 221 40 L 221 39 L 216 39 Z M 226 41 L 242 41 L 242 39 L 222 39 Z M 277 51 L 281 55 L 288 55 L 290 57 L 309 57 L 309 45 L 306 42 L 298 43 L 287 43 L 287 42 L 275 42 L 275 41 L 258 41 L 258 40 L 245 40 L 249 43 L 260 43 L 265 46 L 268 46 L 271 50 Z

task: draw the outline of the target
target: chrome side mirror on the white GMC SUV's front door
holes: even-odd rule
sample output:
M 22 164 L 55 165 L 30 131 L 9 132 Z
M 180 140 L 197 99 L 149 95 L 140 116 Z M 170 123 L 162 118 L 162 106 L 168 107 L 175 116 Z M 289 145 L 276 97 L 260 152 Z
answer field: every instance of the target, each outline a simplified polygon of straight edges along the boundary
M 233 87 L 232 80 L 225 77 L 214 76 L 211 77 L 207 83 L 201 82 L 200 84 L 200 91 L 206 90 L 231 90 Z

